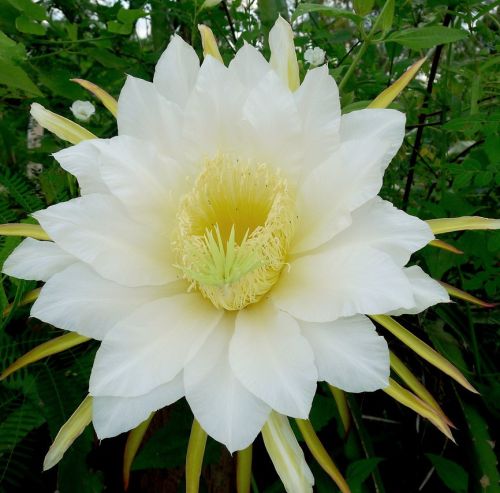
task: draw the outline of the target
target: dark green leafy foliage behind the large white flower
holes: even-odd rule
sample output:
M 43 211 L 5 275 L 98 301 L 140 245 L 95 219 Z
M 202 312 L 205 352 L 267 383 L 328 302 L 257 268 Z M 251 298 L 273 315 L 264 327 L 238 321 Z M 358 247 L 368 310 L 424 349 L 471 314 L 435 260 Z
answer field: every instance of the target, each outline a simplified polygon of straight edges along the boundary
M 73 179 L 50 156 L 65 144 L 47 134 L 37 140 L 36 128 L 28 136 L 33 101 L 72 118 L 71 103 L 92 97 L 71 78 L 90 80 L 118 96 L 125 74 L 151 79 L 173 33 L 201 54 L 198 23 L 211 26 L 226 62 L 245 41 L 267 53 L 267 33 L 278 14 L 293 21 L 303 73 L 308 47 L 326 51 L 332 75 L 342 81 L 344 112 L 366 106 L 428 55 L 420 75 L 394 104 L 407 115 L 407 135 L 382 195 L 421 218 L 498 215 L 499 3 L 389 1 L 379 18 L 384 4 L 379 0 L 233 0 L 207 9 L 193 0 L 0 0 L 0 222 L 25 220 L 30 212 L 77 194 Z M 113 118 L 94 103 L 97 112 L 87 127 L 101 137 L 114 135 Z M 498 299 L 500 236 L 465 232 L 447 241 L 465 253 L 426 247 L 417 261 L 435 278 Z M 1 240 L 0 262 L 18 242 Z M 0 308 L 17 303 L 34 287 L 4 276 Z M 2 367 L 59 333 L 28 314 L 29 308 L 19 307 L 3 318 Z M 500 414 L 498 320 L 498 311 L 461 302 L 405 320 L 457 365 L 481 396 L 457 388 L 388 337 L 391 349 L 457 425 L 457 445 L 382 392 L 350 396 L 355 427 L 344 437 L 328 389 L 319 389 L 311 420 L 353 492 L 500 491 L 493 441 Z M 121 491 L 124 437 L 98 443 L 90 428 L 58 468 L 41 472 L 58 428 L 86 394 L 95 349 L 93 344 L 78 347 L 2 382 L 0 492 Z M 191 419 L 185 402 L 158 413 L 134 462 L 132 491 L 183 490 Z M 317 491 L 334 491 L 309 461 Z M 253 487 L 254 492 L 282 491 L 260 441 Z M 202 490 L 233 488 L 231 458 L 209 442 Z

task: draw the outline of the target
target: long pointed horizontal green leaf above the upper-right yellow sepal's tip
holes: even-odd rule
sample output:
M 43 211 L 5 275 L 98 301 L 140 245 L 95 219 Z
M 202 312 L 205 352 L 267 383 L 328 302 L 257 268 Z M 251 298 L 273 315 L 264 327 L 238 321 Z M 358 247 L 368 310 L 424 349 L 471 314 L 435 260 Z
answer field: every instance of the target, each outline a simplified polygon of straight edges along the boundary
M 415 27 L 397 31 L 385 39 L 385 42 L 398 43 L 414 50 L 453 43 L 468 36 L 466 31 L 444 26 Z

